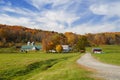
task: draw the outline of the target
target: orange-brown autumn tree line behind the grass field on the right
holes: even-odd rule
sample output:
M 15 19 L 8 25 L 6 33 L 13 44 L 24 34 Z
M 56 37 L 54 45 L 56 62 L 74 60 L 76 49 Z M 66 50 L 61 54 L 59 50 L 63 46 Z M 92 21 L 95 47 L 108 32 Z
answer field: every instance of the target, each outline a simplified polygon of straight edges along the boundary
M 97 34 L 86 34 L 91 46 L 120 45 L 120 32 L 105 32 Z

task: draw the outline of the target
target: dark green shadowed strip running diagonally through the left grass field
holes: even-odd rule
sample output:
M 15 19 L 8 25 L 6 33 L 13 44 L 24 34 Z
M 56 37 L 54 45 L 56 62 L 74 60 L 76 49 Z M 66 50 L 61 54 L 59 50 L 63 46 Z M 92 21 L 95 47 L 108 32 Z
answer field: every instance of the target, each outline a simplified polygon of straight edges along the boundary
M 0 73 L 0 80 L 12 80 L 13 78 L 18 77 L 18 76 L 27 75 L 36 69 L 39 69 L 39 71 L 42 72 L 42 71 L 45 71 L 45 70 L 51 68 L 56 63 L 63 61 L 63 60 L 67 60 L 68 58 L 71 58 L 71 57 L 72 56 L 64 57 L 64 58 L 60 58 L 60 59 L 49 59 L 49 60 L 29 64 L 28 66 L 26 66 L 25 68 L 22 68 L 22 69 L 6 70 L 6 71 L 3 71 Z

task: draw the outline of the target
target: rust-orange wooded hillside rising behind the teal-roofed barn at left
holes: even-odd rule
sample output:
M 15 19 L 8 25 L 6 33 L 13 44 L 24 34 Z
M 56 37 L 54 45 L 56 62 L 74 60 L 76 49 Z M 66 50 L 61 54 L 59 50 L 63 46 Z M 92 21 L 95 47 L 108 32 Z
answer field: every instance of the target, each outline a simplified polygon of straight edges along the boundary
M 26 43 L 27 41 L 41 42 L 45 35 L 50 34 L 57 34 L 57 32 L 0 24 L 0 46 L 7 47 L 13 43 Z

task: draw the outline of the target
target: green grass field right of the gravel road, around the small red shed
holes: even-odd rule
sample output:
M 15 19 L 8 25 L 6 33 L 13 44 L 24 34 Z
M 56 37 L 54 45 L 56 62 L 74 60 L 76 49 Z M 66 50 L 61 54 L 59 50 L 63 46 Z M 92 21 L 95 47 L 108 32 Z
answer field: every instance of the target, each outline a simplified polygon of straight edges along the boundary
M 95 58 L 105 63 L 120 66 L 120 45 L 104 45 L 99 46 L 99 48 L 102 48 L 103 53 L 93 54 Z M 88 51 L 91 49 L 92 48 L 88 48 Z

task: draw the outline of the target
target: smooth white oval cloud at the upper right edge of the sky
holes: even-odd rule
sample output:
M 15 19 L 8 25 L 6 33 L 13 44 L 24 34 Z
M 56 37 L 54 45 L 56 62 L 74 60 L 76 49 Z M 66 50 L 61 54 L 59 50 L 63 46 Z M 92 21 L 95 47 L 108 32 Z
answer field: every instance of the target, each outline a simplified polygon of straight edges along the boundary
M 120 2 L 93 4 L 90 10 L 97 15 L 120 16 Z

